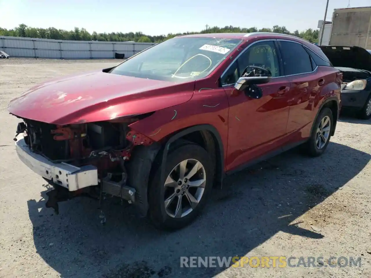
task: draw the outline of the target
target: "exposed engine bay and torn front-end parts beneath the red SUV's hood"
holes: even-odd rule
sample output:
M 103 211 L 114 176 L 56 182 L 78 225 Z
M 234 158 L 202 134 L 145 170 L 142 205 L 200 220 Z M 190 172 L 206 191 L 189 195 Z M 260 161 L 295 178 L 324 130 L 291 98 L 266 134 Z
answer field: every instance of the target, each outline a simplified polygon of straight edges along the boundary
M 153 143 L 151 139 L 128 127 L 137 120 L 139 119 L 124 118 L 116 122 L 112 120 L 58 126 L 23 119 L 17 126 L 16 137 L 23 133 L 24 142 L 33 153 L 57 165 L 92 165 L 98 172 L 98 184 L 78 190 L 69 188 L 69 185 L 65 184 L 68 179 L 61 177 L 62 175 L 53 175 L 50 179 L 44 177 L 55 188 L 47 192 L 49 200 L 46 206 L 54 208 L 58 214 L 58 202 L 79 195 L 102 200 L 103 193 L 134 203 L 136 189 L 127 186 L 125 163 L 130 159 L 135 146 L 149 146 Z

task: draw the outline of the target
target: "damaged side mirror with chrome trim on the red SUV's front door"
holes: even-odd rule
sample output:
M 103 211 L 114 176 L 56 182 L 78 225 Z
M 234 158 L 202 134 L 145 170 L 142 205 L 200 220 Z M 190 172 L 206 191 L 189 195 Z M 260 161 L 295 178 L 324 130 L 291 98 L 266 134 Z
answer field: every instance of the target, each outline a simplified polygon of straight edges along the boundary
M 269 70 L 257 66 L 248 66 L 242 77 L 234 84 L 234 88 L 244 91 L 249 97 L 260 99 L 262 89 L 256 85 L 268 83 L 271 78 L 272 75 Z

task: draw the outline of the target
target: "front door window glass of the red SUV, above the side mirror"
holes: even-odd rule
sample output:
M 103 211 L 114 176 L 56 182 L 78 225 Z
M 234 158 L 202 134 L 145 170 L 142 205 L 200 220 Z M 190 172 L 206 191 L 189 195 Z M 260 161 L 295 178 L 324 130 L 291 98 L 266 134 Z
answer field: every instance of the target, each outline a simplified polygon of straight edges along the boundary
M 272 77 L 281 76 L 274 42 L 260 42 L 246 49 L 222 76 L 221 84 L 235 83 L 248 66 L 264 67 L 270 70 Z

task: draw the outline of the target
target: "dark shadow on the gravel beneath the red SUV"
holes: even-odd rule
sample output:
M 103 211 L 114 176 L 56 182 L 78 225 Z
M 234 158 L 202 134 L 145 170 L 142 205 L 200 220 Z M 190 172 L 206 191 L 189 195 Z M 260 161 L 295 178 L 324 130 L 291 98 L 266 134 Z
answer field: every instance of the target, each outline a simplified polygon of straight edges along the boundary
M 299 227 L 297 218 L 369 161 L 368 153 L 333 142 L 318 158 L 290 150 L 229 176 L 203 214 L 176 232 L 154 229 L 114 198 L 104 201 L 105 225 L 97 202 L 88 198 L 60 203 L 60 214 L 54 215 L 45 208 L 46 189 L 40 200 L 28 201 L 33 239 L 60 277 L 214 277 L 226 267 L 181 268 L 180 257 L 244 256 L 280 231 L 324 238 Z

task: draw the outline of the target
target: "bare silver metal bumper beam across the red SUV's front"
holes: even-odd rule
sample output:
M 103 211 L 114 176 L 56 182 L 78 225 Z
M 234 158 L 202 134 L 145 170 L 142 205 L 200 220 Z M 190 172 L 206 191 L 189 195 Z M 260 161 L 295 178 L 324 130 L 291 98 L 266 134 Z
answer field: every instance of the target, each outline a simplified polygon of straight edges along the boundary
M 98 170 L 95 166 L 76 167 L 67 163 L 53 163 L 32 152 L 24 139 L 16 142 L 16 150 L 19 159 L 32 171 L 69 191 L 98 185 Z

